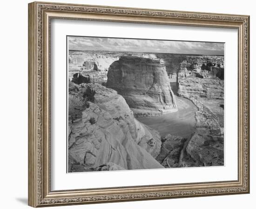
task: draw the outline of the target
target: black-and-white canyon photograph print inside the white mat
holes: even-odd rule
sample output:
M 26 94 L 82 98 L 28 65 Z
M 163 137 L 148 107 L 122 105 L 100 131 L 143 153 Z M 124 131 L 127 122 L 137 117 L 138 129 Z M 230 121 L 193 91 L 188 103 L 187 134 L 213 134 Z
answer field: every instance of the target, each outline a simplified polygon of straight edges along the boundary
M 224 43 L 67 36 L 67 171 L 224 165 Z

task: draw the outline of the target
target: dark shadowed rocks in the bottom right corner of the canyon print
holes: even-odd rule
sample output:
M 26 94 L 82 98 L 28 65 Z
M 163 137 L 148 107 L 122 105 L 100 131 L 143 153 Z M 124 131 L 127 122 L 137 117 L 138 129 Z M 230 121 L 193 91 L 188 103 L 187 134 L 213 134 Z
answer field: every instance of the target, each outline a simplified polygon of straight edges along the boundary
M 168 134 L 156 160 L 165 168 L 224 165 L 223 137 L 205 130 L 197 130 L 187 139 Z

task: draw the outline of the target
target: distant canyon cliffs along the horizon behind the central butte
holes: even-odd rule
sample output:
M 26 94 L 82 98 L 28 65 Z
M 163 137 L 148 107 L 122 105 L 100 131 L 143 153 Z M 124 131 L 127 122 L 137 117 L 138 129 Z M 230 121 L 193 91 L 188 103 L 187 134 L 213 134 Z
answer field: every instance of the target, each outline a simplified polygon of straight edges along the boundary
M 121 56 L 136 56 L 161 60 L 166 66 L 166 71 L 171 82 L 176 82 L 176 76 L 197 74 L 203 78 L 217 76 L 223 78 L 224 58 L 217 55 L 191 55 L 172 53 L 147 53 L 147 52 L 102 52 L 102 51 L 69 51 L 70 79 L 77 72 L 100 71 L 108 72 L 109 66 Z

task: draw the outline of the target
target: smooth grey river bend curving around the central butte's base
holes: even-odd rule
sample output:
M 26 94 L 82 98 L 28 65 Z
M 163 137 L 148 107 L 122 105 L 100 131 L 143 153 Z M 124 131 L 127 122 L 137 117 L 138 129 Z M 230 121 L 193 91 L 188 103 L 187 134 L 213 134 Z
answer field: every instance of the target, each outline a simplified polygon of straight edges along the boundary
M 154 118 L 136 118 L 150 128 L 159 131 L 161 137 L 167 134 L 189 137 L 195 131 L 195 111 L 198 108 L 189 99 L 176 97 L 178 111 Z

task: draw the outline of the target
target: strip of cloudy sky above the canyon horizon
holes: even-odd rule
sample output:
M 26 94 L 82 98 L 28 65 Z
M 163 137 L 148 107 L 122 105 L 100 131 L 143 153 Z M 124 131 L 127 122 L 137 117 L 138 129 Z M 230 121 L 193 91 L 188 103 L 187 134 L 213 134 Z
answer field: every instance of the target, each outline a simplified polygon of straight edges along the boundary
M 70 50 L 106 50 L 223 55 L 224 44 L 213 42 L 68 37 Z

